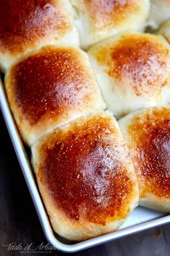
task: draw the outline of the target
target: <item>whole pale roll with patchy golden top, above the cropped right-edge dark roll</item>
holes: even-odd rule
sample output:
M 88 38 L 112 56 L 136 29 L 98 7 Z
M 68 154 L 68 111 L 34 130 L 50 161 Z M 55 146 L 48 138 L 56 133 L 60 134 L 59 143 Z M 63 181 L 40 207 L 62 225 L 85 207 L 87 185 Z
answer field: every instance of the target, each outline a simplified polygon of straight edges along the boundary
M 170 47 L 158 35 L 125 32 L 89 49 L 107 106 L 116 116 L 170 101 Z

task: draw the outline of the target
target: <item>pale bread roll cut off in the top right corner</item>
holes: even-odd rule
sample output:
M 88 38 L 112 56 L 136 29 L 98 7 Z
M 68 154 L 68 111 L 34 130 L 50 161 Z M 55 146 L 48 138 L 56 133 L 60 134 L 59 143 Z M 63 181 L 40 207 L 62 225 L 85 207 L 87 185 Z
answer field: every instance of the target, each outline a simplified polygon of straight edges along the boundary
M 170 0 L 151 0 L 151 12 L 148 25 L 157 29 L 161 23 L 170 18 Z

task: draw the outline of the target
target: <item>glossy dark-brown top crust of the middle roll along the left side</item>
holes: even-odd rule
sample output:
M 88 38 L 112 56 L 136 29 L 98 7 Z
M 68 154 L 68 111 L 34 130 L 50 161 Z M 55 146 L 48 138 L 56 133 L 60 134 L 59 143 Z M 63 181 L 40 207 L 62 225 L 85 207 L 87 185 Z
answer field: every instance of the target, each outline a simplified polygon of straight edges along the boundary
M 45 114 L 56 116 L 88 105 L 93 96 L 88 79 L 79 51 L 48 47 L 14 66 L 9 87 L 23 116 L 33 125 Z

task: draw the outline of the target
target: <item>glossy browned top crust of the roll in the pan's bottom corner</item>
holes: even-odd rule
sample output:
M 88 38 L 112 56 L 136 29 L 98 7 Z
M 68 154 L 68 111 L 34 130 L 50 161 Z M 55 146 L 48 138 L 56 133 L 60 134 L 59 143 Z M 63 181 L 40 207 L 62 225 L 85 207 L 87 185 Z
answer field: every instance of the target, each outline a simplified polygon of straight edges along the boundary
M 38 179 L 68 218 L 105 225 L 128 215 L 135 177 L 112 116 L 56 130 L 42 141 L 39 154 Z

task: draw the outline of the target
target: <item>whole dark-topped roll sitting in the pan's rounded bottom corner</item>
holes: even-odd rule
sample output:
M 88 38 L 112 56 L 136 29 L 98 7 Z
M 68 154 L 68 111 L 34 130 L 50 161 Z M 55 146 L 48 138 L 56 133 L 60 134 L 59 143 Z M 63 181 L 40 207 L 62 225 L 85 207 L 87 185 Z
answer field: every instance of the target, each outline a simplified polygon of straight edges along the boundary
M 133 164 L 112 114 L 97 111 L 55 129 L 32 156 L 53 229 L 66 239 L 115 231 L 138 205 Z

